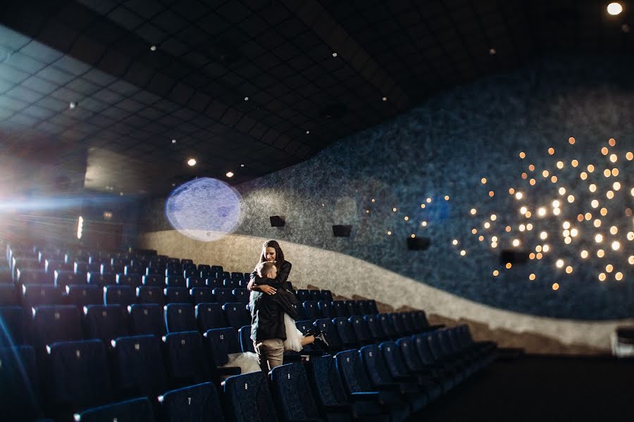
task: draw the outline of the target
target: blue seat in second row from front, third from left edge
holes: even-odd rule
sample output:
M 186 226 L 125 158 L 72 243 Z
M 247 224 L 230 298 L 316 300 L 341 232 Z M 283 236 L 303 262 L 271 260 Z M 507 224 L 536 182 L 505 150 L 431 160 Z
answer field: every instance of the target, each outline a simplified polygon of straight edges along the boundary
M 167 388 L 161 340 L 132 335 L 112 341 L 112 380 L 117 397 L 157 397 Z

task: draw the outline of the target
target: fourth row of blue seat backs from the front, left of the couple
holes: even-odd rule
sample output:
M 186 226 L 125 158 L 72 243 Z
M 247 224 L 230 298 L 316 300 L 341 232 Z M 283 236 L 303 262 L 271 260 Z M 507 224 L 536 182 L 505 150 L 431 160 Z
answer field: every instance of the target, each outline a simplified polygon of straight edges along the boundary
M 132 305 L 133 303 L 249 303 L 246 288 L 166 287 L 158 286 L 91 286 L 71 285 L 66 288 L 32 284 L 0 285 L 0 306 L 39 305 Z

